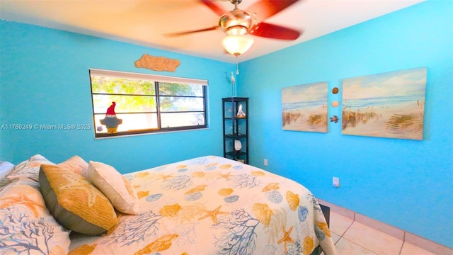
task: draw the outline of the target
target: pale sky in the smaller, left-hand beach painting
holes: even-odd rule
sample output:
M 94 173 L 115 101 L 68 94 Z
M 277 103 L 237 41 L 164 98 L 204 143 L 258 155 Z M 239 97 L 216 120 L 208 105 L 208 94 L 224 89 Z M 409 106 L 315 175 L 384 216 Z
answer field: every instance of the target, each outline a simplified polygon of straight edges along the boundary
M 282 89 L 282 103 L 313 102 L 327 100 L 327 81 Z

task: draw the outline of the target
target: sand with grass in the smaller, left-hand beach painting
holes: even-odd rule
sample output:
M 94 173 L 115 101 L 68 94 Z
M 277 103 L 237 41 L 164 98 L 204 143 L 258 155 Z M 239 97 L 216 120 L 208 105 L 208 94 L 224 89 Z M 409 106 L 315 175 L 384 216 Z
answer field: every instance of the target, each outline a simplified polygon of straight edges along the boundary
M 327 106 L 284 110 L 282 128 L 283 130 L 327 132 Z

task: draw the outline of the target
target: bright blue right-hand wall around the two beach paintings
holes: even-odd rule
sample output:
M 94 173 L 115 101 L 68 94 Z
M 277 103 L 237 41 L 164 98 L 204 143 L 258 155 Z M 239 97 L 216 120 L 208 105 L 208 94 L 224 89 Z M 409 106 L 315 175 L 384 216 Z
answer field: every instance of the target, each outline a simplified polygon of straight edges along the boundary
M 240 64 L 251 164 L 328 202 L 453 247 L 452 1 L 427 1 Z M 310 24 L 306 24 L 306 30 Z M 428 67 L 424 139 L 282 130 L 282 87 Z M 331 102 L 341 94 L 328 94 Z M 341 107 L 328 108 L 341 116 Z M 263 165 L 268 159 L 268 166 Z M 340 178 L 340 188 L 332 177 Z

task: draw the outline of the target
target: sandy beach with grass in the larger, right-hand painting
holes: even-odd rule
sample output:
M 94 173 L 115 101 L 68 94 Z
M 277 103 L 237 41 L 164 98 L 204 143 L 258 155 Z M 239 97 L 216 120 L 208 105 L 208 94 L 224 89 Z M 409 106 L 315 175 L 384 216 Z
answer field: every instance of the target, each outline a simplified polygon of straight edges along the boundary
M 343 135 L 423 139 L 424 101 L 391 106 L 343 108 Z

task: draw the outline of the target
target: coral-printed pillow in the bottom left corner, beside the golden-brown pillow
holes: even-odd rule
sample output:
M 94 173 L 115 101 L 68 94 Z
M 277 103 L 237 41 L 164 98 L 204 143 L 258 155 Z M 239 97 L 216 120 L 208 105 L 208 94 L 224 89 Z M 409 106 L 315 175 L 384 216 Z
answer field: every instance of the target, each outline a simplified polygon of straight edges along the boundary
M 0 254 L 64 255 L 69 231 L 45 207 L 38 182 L 17 178 L 0 188 Z

